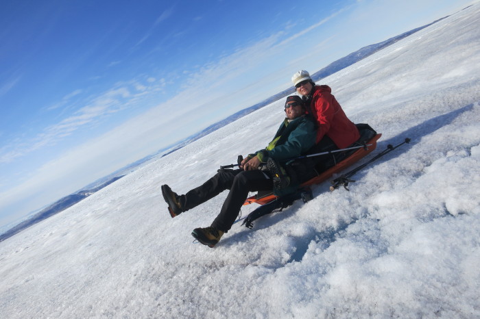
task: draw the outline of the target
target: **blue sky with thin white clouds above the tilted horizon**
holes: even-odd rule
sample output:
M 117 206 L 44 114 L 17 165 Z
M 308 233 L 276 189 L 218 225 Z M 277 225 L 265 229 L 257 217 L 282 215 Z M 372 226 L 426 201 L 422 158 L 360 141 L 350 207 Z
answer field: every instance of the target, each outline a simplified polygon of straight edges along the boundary
M 472 2 L 2 1 L 0 226 Z

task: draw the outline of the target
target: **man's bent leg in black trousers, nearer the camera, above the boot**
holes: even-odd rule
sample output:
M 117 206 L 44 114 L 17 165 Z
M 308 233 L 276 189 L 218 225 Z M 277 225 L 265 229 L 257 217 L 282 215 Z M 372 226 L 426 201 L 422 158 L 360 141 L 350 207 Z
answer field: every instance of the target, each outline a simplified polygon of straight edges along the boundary
M 248 192 L 272 190 L 273 181 L 262 170 L 246 170 L 235 176 L 230 192 L 221 207 L 220 214 L 213 220 L 212 227 L 226 232 L 237 219 L 241 206 L 247 199 Z

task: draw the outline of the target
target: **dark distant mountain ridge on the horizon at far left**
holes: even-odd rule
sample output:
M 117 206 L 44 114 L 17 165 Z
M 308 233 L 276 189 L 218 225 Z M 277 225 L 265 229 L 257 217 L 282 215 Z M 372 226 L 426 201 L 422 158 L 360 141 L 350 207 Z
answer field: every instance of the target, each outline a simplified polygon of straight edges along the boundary
M 23 229 L 26 229 L 32 225 L 35 225 L 37 222 L 41 222 L 42 220 L 45 220 L 49 218 L 50 216 L 53 216 L 55 214 L 58 214 L 59 212 L 62 212 L 62 210 L 67 209 L 68 207 L 78 203 L 79 201 L 82 201 L 82 199 L 85 199 L 86 197 L 90 196 L 91 194 L 98 192 L 102 188 L 110 185 L 114 181 L 117 181 L 117 179 L 121 179 L 123 176 L 119 177 L 114 177 L 110 179 L 110 181 L 107 181 L 106 183 L 101 184 L 100 186 L 97 186 L 96 188 L 88 189 L 88 190 L 80 190 L 79 192 L 76 192 L 75 194 L 71 194 L 68 196 L 65 196 L 64 198 L 56 201 L 55 203 L 51 204 L 49 207 L 46 207 L 45 209 L 42 209 L 40 212 L 37 214 L 34 214 L 33 216 L 27 218 L 27 220 L 24 220 L 21 222 L 19 225 L 16 225 L 12 229 L 9 229 L 5 233 L 0 235 L 0 242 L 3 240 L 12 237 L 16 233 L 19 233 L 23 231 Z

